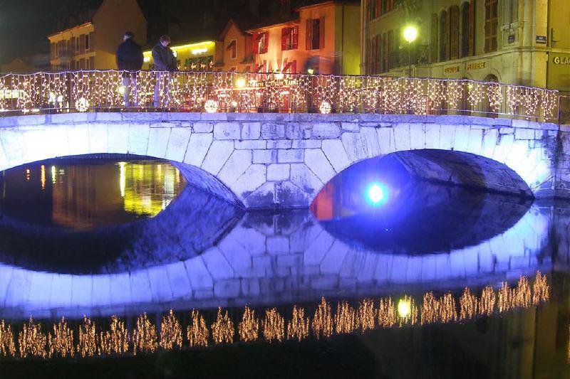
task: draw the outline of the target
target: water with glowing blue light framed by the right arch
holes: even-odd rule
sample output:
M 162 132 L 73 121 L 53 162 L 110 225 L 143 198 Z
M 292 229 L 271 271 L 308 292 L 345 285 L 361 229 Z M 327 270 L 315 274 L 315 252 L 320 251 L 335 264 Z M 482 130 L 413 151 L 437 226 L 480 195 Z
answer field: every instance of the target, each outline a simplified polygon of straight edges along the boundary
M 418 180 L 398 157 L 388 157 L 343 171 L 326 184 L 311 210 L 331 235 L 349 245 L 425 254 L 478 245 L 512 228 L 531 204 L 526 198 Z

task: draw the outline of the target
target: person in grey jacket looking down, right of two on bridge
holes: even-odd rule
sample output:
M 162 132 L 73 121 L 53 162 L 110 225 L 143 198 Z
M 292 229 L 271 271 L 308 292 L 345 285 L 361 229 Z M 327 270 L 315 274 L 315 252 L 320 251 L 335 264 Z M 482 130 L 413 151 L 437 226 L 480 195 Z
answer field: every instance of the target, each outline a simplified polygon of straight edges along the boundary
M 160 107 L 160 97 L 165 98 L 162 105 L 168 106 L 168 87 L 170 85 L 170 73 L 177 71 L 177 62 L 174 53 L 168 47 L 169 36 L 161 36 L 157 45 L 152 48 L 152 60 L 155 61 L 155 108 Z

